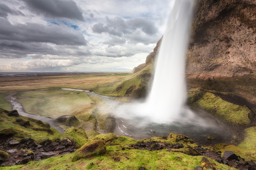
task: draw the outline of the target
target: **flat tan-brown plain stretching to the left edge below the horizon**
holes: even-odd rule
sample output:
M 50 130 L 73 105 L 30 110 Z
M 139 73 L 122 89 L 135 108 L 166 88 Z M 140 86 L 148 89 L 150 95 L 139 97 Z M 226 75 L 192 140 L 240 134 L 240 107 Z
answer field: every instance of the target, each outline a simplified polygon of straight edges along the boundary
M 90 73 L 52 76 L 24 76 L 18 78 L 1 78 L 0 92 L 50 90 L 61 88 L 94 89 L 119 81 L 130 74 Z

